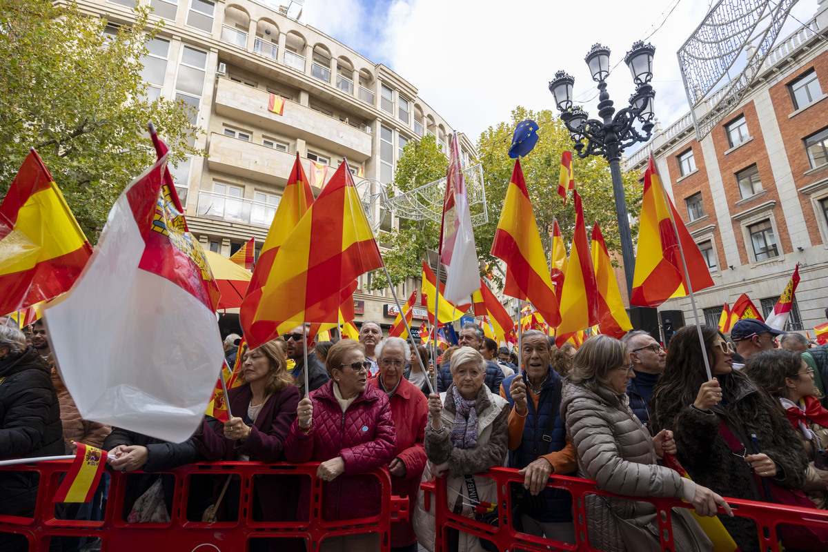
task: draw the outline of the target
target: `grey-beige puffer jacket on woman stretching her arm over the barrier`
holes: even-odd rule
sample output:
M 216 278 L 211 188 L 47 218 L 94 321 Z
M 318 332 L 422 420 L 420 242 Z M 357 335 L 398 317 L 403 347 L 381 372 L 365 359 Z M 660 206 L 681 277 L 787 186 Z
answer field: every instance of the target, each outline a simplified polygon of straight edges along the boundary
M 566 434 L 578 454 L 578 475 L 595 479 L 598 487 L 633 497 L 676 497 L 692 501 L 696 483 L 657 464 L 652 437 L 628 407 L 626 394 L 616 395 L 604 386 L 590 391 L 564 384 L 561 416 Z M 649 502 L 585 499 L 590 545 L 604 552 L 625 552 L 623 541 L 609 511 L 633 518 L 654 511 Z

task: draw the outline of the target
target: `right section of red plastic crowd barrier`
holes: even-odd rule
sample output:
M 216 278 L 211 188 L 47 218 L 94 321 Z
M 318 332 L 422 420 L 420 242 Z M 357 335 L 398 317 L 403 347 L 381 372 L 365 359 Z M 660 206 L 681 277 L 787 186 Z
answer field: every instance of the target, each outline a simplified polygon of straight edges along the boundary
M 589 495 L 632 498 L 636 501 L 652 503 L 659 512 L 658 528 L 662 535 L 662 550 L 664 552 L 673 552 L 671 509 L 675 507 L 691 507 L 687 502 L 682 502 L 676 498 L 624 497 L 613 492 L 600 490 L 597 483 L 591 479 L 553 475 L 549 478 L 546 486 L 565 489 L 570 492 L 573 499 L 573 519 L 575 521 L 575 538 L 577 542 L 576 544 L 570 545 L 556 540 L 527 535 L 514 529 L 513 501 L 510 485 L 522 486 L 523 484 L 523 478 L 517 475 L 516 469 L 492 468 L 487 472 L 477 475 L 492 478 L 497 483 L 499 515 L 499 525 L 497 527 L 486 525 L 450 511 L 447 506 L 445 478 L 437 478 L 434 482 L 422 483 L 421 487 L 425 491 L 425 509 L 426 511 L 433 510 L 435 513 L 437 535 L 435 552 L 453 552 L 449 547 L 448 529 L 460 530 L 468 535 L 475 535 L 481 539 L 489 540 L 489 542 L 497 546 L 499 552 L 506 552 L 506 550 L 526 550 L 527 552 L 548 552 L 549 550 L 577 550 L 581 552 L 598 550 L 590 545 L 590 535 L 587 530 L 584 499 Z M 780 552 L 782 550 L 782 547 L 777 542 L 777 526 L 779 524 L 828 528 L 828 511 L 825 510 L 782 506 L 779 504 L 753 502 L 735 498 L 728 498 L 727 502 L 733 509 L 734 516 L 751 518 L 753 521 L 756 521 L 760 550 L 773 550 L 774 552 Z M 828 550 L 828 545 L 826 545 L 826 550 Z M 676 550 L 675 552 L 683 551 Z M 716 550 L 716 552 L 719 552 L 719 550 Z

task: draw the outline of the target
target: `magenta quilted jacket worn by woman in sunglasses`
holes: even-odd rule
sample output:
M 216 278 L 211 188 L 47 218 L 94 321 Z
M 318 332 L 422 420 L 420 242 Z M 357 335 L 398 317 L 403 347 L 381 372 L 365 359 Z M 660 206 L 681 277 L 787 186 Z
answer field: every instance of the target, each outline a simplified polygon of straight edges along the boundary
M 376 516 L 382 504 L 378 479 L 359 475 L 391 461 L 397 439 L 388 396 L 365 386 L 344 413 L 334 396 L 334 382 L 310 393 L 313 423 L 310 431 L 291 425 L 285 455 L 288 462 L 325 462 L 341 456 L 345 472 L 322 485 L 322 517 L 326 521 Z M 310 487 L 302 478 L 299 516 L 310 513 Z

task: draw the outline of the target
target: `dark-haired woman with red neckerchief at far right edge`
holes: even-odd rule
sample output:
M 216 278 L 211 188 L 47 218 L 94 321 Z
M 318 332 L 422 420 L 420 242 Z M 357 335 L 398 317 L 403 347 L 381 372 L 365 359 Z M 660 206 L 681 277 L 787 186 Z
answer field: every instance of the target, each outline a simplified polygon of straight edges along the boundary
M 808 367 L 799 353 L 771 349 L 751 355 L 742 372 L 768 391 L 785 410 L 787 420 L 797 432 L 810 460 L 802 490 L 816 507 L 825 510 L 828 507 L 828 466 L 825 461 L 828 410 L 817 398 L 819 391 L 814 382 L 814 369 Z

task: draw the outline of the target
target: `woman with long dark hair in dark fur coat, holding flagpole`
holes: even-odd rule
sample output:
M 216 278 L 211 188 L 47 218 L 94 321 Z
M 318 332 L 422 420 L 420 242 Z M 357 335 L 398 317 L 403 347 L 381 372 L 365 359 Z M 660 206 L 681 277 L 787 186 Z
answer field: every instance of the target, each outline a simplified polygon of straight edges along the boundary
M 797 489 L 807 458 L 777 402 L 733 369 L 733 348 L 712 326 L 679 329 L 650 398 L 651 431 L 672 430 L 677 456 L 693 481 L 724 497 L 763 499 L 763 478 Z M 707 381 L 705 355 L 713 379 Z M 754 477 L 758 476 L 758 477 Z M 760 488 L 762 487 L 762 488 Z M 758 552 L 756 525 L 720 516 L 742 552 Z

